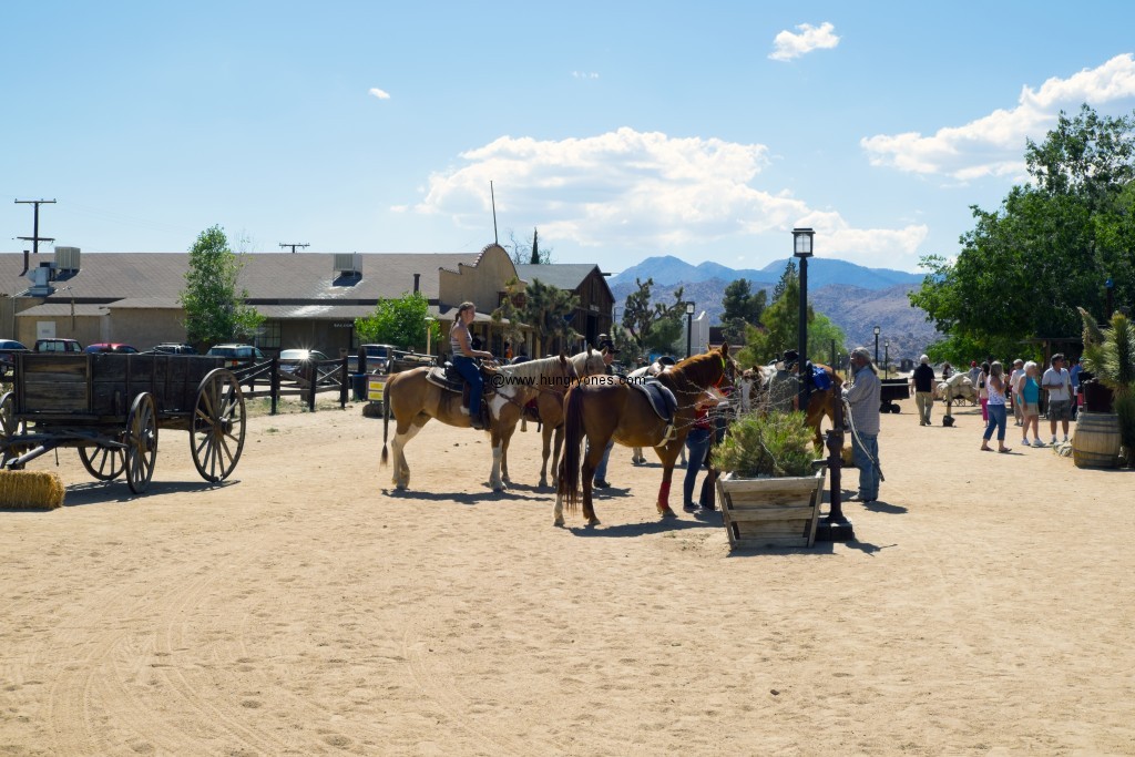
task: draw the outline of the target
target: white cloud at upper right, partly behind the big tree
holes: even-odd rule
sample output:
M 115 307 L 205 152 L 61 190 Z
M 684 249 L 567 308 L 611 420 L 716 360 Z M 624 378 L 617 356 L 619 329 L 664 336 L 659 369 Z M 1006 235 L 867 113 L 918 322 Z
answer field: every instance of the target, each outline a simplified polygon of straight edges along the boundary
M 949 176 L 968 182 L 983 176 L 1020 177 L 1025 173 L 1025 138 L 1040 141 L 1060 110 L 1074 113 L 1081 103 L 1098 109 L 1135 100 L 1135 58 L 1116 56 L 1098 68 L 1061 79 L 1050 78 L 1040 90 L 1025 86 L 1012 110 L 995 110 L 965 126 L 943 127 L 932 136 L 918 132 L 878 134 L 859 144 L 873 166 Z

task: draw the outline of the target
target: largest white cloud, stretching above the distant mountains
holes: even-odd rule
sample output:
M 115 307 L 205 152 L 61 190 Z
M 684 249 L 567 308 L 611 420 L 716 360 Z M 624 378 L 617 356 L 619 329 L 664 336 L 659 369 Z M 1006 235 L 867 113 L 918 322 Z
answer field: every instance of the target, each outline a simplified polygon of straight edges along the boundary
M 914 262 L 927 234 L 925 226 L 855 229 L 783 188 L 756 186 L 768 160 L 763 144 L 624 127 L 561 141 L 502 136 L 461 158 L 464 166 L 430 176 L 415 212 L 484 228 L 493 182 L 497 217 L 538 226 L 549 243 L 678 253 L 714 242 L 753 249 L 764 235 L 777 238 L 802 224 L 825 235 L 825 251 L 877 256 L 874 262 L 892 267 L 897 256 Z

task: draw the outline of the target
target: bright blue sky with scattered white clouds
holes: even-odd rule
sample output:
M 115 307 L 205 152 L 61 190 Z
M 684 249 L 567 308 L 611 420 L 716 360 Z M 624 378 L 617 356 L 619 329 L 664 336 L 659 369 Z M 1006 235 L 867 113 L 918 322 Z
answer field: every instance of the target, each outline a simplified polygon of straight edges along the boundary
M 1082 102 L 1135 3 L 5 2 L 0 251 L 673 254 L 916 270 Z

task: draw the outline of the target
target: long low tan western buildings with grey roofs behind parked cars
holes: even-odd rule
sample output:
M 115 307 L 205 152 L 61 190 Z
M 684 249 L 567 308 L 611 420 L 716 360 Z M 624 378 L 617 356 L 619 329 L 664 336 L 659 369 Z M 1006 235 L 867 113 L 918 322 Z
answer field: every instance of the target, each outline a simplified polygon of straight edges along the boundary
M 380 301 L 411 292 L 426 297 L 443 333 L 447 333 L 457 305 L 473 302 L 473 333 L 487 348 L 503 353 L 501 329 L 494 328 L 489 313 L 498 306 L 508 279 L 526 280 L 497 244 L 479 253 L 270 252 L 247 253 L 241 261 L 244 267 L 237 287 L 247 291 L 247 303 L 266 317 L 255 340 L 267 353 L 295 346 L 316 347 L 330 355 L 340 348 L 354 350 L 355 319 L 372 314 Z M 0 337 L 27 345 L 54 336 L 83 344 L 121 342 L 140 350 L 184 342 L 185 312 L 179 297 L 188 267 L 188 253 L 81 255 L 73 247 L 35 256 L 0 253 Z M 34 272 L 40 268 L 45 270 Z M 596 266 L 528 268 L 545 269 L 541 272 L 549 274 L 544 279 L 548 284 L 574 281 L 577 286 L 568 288 L 586 292 L 598 276 L 609 298 L 609 288 Z M 575 328 L 594 337 L 609 325 L 611 303 L 604 308 L 603 297 L 582 303 L 581 298 L 581 310 L 573 320 L 583 328 Z

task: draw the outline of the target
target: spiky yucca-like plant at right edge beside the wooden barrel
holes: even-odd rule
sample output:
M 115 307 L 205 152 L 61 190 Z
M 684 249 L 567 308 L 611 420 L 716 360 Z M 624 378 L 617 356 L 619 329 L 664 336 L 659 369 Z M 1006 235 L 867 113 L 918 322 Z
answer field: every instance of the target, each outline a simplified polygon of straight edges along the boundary
M 1110 326 L 1100 328 L 1086 310 L 1078 310 L 1084 321 L 1084 369 L 1111 389 L 1119 440 L 1127 448 L 1127 464 L 1135 465 L 1135 323 L 1116 313 Z

